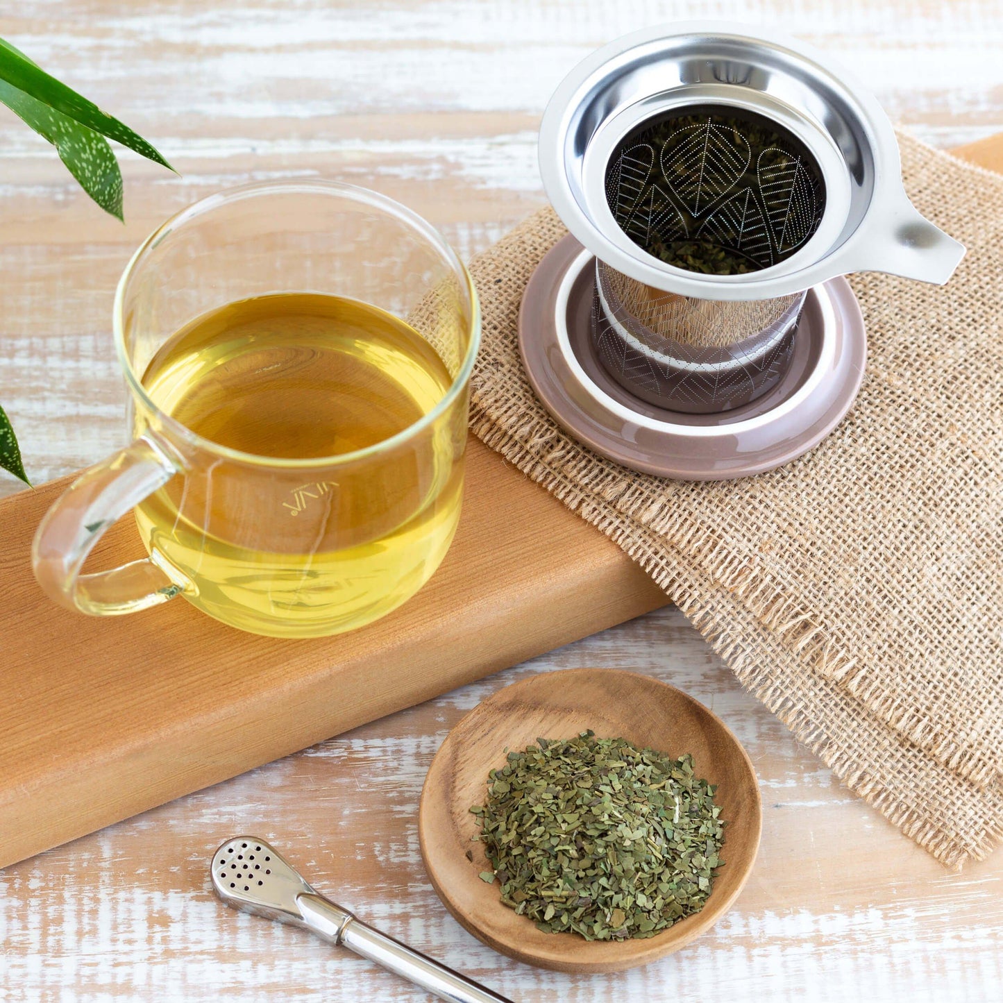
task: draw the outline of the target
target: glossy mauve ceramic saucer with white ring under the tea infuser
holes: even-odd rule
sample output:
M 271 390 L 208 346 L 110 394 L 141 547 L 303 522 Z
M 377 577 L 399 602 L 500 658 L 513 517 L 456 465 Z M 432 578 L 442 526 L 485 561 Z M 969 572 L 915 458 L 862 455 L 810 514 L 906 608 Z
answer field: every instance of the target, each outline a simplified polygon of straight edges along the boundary
M 724 480 L 771 470 L 839 424 L 864 378 L 864 317 L 846 279 L 808 290 L 790 364 L 766 394 L 719 414 L 640 400 L 593 350 L 595 258 L 566 237 L 537 267 L 519 314 L 526 374 L 555 420 L 580 442 L 635 470 Z

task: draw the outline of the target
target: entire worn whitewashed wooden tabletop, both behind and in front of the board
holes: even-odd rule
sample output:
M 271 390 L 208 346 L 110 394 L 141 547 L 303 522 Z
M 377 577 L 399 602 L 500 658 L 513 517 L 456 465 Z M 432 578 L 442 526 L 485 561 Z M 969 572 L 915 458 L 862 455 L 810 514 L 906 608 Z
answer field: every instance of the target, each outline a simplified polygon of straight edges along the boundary
M 123 441 L 112 291 L 163 217 L 249 179 L 320 174 L 400 199 L 468 257 L 541 204 L 536 126 L 561 76 L 624 31 L 686 17 L 772 24 L 824 46 L 935 144 L 1003 129 L 996 2 L 9 5 L 0 35 L 181 172 L 124 156 L 123 228 L 0 114 L 0 401 L 33 477 Z M 16 489 L 0 480 L 0 494 Z M 759 863 L 732 912 L 679 954 L 618 976 L 498 957 L 439 906 L 418 855 L 421 781 L 448 728 L 506 683 L 579 665 L 646 672 L 713 707 L 748 748 L 765 805 Z M 0 999 L 424 998 L 298 931 L 221 907 L 207 855 L 237 830 L 273 837 L 362 917 L 518 1001 L 1003 998 L 1003 853 L 960 876 L 943 871 L 842 788 L 672 610 L 8 868 Z

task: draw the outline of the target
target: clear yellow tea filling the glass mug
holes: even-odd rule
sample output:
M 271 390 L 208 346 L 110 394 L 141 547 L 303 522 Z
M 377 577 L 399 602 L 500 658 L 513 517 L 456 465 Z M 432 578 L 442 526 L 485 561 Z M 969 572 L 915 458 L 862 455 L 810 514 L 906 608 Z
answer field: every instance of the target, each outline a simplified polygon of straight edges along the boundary
M 207 613 L 286 637 L 348 630 L 412 595 L 448 548 L 466 409 L 395 443 L 452 382 L 397 317 L 314 293 L 231 303 L 170 338 L 142 382 L 226 447 L 136 509 L 152 560 Z

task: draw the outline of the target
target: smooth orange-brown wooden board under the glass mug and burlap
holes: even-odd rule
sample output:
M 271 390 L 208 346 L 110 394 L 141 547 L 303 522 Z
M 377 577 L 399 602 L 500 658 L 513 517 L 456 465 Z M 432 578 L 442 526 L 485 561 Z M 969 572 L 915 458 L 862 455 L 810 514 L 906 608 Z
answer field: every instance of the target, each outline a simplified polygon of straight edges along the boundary
M 1003 169 L 1003 136 L 957 151 Z M 182 600 L 91 619 L 29 549 L 71 478 L 0 501 L 0 867 L 665 603 L 616 545 L 471 437 L 463 515 L 427 586 L 340 637 L 255 637 Z M 128 520 L 92 567 L 142 556 Z

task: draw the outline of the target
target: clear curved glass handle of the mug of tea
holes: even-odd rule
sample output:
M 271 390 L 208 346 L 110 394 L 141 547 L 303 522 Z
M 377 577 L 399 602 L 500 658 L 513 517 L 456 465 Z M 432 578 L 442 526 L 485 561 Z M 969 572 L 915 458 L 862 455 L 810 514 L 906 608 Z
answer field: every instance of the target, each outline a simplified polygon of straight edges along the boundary
M 31 561 L 46 595 L 93 616 L 134 613 L 177 596 L 181 587 L 149 558 L 80 574 L 105 530 L 177 472 L 165 452 L 143 436 L 80 474 L 45 514 L 35 534 Z

